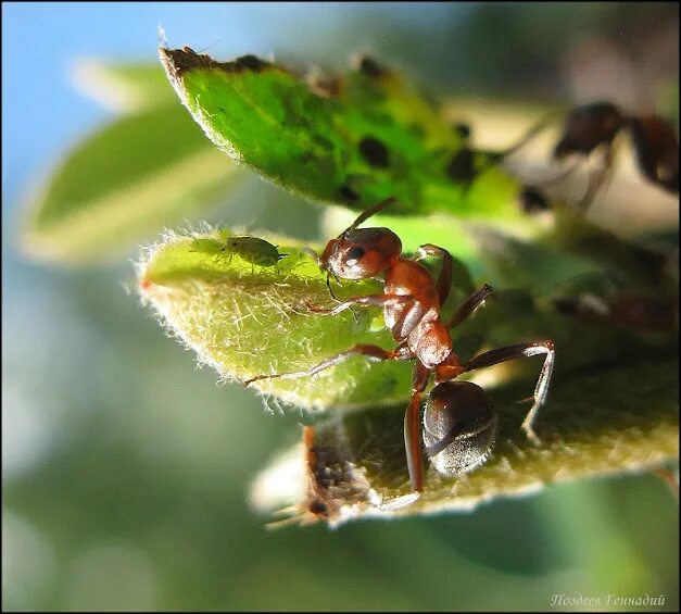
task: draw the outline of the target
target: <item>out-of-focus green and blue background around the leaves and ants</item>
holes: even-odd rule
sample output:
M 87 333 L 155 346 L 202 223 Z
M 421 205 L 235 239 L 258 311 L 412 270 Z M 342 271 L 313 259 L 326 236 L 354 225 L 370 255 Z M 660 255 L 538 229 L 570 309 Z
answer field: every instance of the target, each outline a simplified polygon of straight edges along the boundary
M 70 83 L 74 61 L 155 62 L 159 25 L 223 59 L 342 67 L 373 51 L 436 95 L 678 104 L 677 3 L 3 3 L 3 610 L 545 610 L 554 594 L 678 609 L 678 504 L 651 476 L 266 530 L 249 486 L 301 416 L 196 369 L 126 292 L 130 262 L 21 255 L 23 199 L 112 116 Z M 240 203 L 218 218 L 319 237 L 318 210 L 274 187 Z

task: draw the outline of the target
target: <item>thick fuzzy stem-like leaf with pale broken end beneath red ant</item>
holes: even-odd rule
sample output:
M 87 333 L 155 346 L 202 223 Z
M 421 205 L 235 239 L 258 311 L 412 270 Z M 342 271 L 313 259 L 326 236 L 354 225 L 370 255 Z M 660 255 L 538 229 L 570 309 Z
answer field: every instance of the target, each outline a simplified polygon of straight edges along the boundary
M 678 366 L 676 356 L 663 356 L 554 379 L 550 401 L 537 421 L 540 447 L 531 444 L 520 428 L 527 406 L 516 402 L 532 384 L 493 392 L 500 424 L 485 464 L 447 477 L 427 462 L 420 499 L 392 510 L 381 505 L 409 493 L 404 406 L 325 421 L 307 427 L 303 446 L 256 479 L 252 501 L 261 511 L 293 504 L 295 519 L 338 526 L 362 517 L 467 511 L 551 484 L 645 472 L 679 454 Z M 282 483 L 282 476 L 288 481 Z

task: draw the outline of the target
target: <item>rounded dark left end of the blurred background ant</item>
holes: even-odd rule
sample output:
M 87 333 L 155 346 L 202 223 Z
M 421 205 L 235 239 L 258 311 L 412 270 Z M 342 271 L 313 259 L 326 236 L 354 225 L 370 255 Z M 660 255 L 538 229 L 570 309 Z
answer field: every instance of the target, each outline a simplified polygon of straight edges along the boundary
M 570 153 L 587 155 L 602 143 L 610 145 L 623 121 L 619 109 L 610 102 L 593 102 L 573 109 L 565 121 L 554 158 Z

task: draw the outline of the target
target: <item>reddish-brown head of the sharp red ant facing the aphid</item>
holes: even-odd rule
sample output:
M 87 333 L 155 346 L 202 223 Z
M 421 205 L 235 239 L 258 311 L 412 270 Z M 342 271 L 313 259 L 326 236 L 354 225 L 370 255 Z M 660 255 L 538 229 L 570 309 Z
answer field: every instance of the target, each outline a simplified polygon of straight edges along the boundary
M 327 243 L 319 266 L 341 279 L 367 279 L 401 251 L 400 238 L 388 228 L 350 228 Z

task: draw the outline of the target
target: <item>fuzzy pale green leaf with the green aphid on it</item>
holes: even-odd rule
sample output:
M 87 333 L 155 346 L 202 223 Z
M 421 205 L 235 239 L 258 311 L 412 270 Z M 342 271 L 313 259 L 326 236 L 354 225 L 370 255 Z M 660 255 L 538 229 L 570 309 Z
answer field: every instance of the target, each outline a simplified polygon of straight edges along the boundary
M 201 363 L 215 367 L 223 378 L 244 380 L 307 368 L 360 342 L 393 344 L 378 309 L 358 309 L 356 316 L 350 311 L 337 316 L 307 312 L 305 300 L 333 303 L 326 275 L 300 245 L 273 238 L 279 252 L 288 255 L 276 266 L 258 266 L 219 252 L 223 239 L 217 233 L 174 237 L 152 248 L 139 268 L 143 300 Z M 376 281 L 346 285 L 337 296 L 376 293 L 380 288 Z M 409 373 L 407 363 L 370 367 L 355 359 L 315 377 L 265 379 L 253 387 L 311 410 L 352 406 L 404 398 Z

